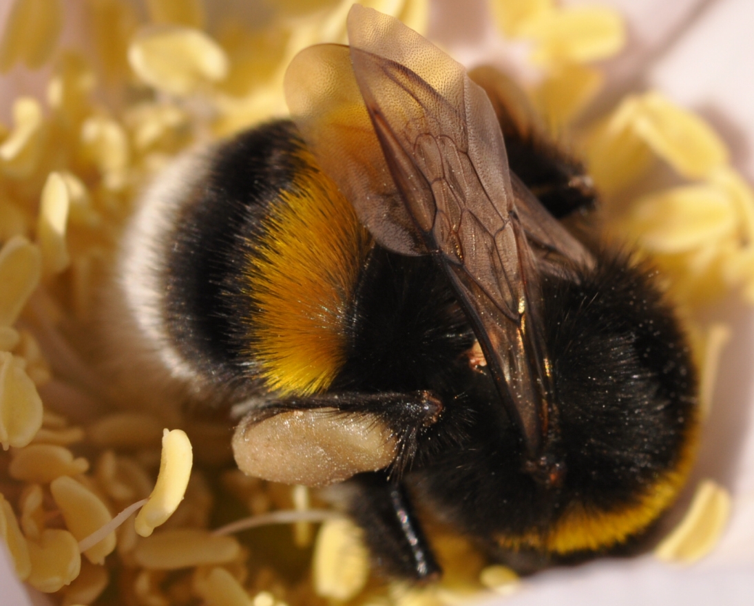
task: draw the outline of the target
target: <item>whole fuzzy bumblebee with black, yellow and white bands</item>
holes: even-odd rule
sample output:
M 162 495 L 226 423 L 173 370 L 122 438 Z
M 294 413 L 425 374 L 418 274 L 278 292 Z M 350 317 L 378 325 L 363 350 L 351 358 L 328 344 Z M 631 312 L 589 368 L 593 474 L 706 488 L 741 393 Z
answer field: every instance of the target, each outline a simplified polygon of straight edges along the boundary
M 697 430 L 654 273 L 559 221 L 590 181 L 510 81 L 360 6 L 348 35 L 293 60 L 292 121 L 146 194 L 116 297 L 139 382 L 231 409 L 250 475 L 342 482 L 397 577 L 441 573 L 425 519 L 520 567 L 639 537 Z

